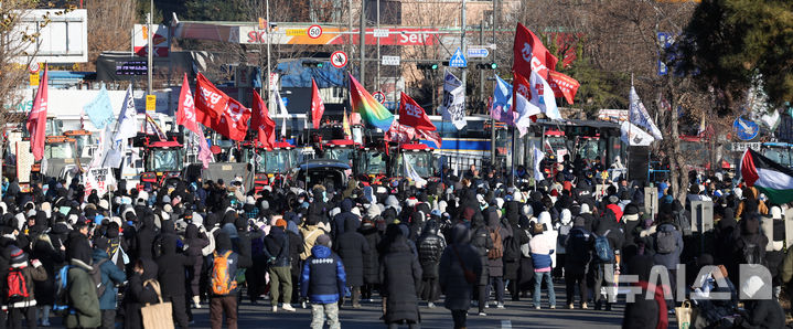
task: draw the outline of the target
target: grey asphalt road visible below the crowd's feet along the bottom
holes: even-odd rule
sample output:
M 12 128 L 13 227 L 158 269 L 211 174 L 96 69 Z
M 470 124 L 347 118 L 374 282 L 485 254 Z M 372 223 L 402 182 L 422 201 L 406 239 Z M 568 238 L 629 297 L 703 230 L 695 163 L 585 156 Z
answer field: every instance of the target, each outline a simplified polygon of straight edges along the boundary
M 624 310 L 624 301 L 618 304 L 612 311 L 596 311 L 590 306 L 588 310 L 566 309 L 565 307 L 565 288 L 564 285 L 556 285 L 557 309 L 547 308 L 547 298 L 544 297 L 543 309 L 536 310 L 532 308 L 529 299 L 524 298 L 522 301 L 506 301 L 505 309 L 496 309 L 491 307 L 485 309 L 487 316 L 480 317 L 475 315 L 476 309 L 469 310 L 468 327 L 469 328 L 619 328 L 622 323 L 622 314 Z M 508 295 L 507 295 L 508 299 Z M 375 299 L 373 303 L 362 303 L 363 308 L 352 309 L 349 307 L 340 310 L 340 319 L 342 328 L 385 328 L 379 317 L 381 300 Z M 437 303 L 437 307 L 429 309 L 426 303 L 420 304 L 421 328 L 451 328 L 452 320 L 449 310 L 442 307 L 442 300 Z M 246 300 L 239 307 L 239 328 L 308 328 L 311 322 L 311 309 L 302 309 L 299 306 L 297 312 L 287 312 L 279 310 L 274 314 L 270 310 L 270 304 L 267 300 L 259 301 L 258 305 L 251 305 Z M 208 328 L 208 309 L 202 307 L 194 309 L 195 323 L 191 328 Z M 672 322 L 669 328 L 677 328 L 674 323 L 674 316 L 669 316 Z M 403 328 L 407 328 L 404 326 Z

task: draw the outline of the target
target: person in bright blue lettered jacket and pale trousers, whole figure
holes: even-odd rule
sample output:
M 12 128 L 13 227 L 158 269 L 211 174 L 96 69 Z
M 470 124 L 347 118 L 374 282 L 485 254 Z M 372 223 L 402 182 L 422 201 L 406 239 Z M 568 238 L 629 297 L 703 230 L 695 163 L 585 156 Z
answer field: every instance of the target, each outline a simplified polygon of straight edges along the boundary
M 346 274 L 342 259 L 331 252 L 330 245 L 330 235 L 318 236 L 303 264 L 300 296 L 311 301 L 312 329 L 322 329 L 325 321 L 331 329 L 341 328 L 339 300 L 344 294 Z

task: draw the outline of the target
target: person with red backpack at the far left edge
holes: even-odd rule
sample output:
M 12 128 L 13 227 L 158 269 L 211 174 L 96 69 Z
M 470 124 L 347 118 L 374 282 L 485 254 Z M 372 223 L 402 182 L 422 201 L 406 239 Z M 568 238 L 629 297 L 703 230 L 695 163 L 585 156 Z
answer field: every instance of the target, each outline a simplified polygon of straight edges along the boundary
M 28 254 L 18 248 L 15 245 L 10 245 L 6 248 L 6 251 L 7 255 L 4 256 L 9 259 L 10 264 L 8 275 L 22 276 L 24 278 L 23 282 L 25 287 L 21 288 L 29 293 L 28 297 L 10 298 L 7 300 L 9 308 L 9 327 L 22 328 L 22 317 L 24 316 L 28 328 L 35 328 L 36 300 L 34 296 L 33 280 L 45 280 L 46 269 L 44 269 L 44 266 L 42 266 L 41 262 L 37 259 L 28 262 Z

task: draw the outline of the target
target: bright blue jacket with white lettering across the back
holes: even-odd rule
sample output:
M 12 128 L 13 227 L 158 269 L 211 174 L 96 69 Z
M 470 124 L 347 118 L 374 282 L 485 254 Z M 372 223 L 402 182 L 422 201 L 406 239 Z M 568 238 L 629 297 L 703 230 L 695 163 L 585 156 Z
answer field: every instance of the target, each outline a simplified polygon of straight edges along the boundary
M 309 297 L 313 304 L 336 303 L 346 280 L 342 259 L 329 247 L 315 245 L 303 265 L 300 296 Z

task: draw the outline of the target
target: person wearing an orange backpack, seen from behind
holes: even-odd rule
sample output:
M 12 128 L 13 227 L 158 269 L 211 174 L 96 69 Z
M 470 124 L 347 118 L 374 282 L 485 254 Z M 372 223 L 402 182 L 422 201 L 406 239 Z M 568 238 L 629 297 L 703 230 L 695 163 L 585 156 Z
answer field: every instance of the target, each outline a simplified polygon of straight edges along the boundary
M 214 266 L 215 262 L 225 261 L 228 266 L 226 267 L 226 273 L 222 275 L 229 276 L 232 283 L 225 287 L 228 289 L 227 294 L 219 294 L 213 290 L 214 288 L 211 289 L 210 323 L 212 323 L 212 328 L 222 328 L 225 316 L 225 322 L 228 328 L 237 328 L 237 293 L 239 288 L 235 279 L 235 274 L 237 273 L 239 257 L 237 253 L 233 251 L 232 238 L 226 232 L 221 231 L 215 237 L 215 243 L 216 250 L 208 264 L 208 268 L 212 268 L 210 274 L 211 276 L 215 275 L 215 273 L 213 273 L 216 268 Z M 219 270 L 219 266 L 217 269 Z

